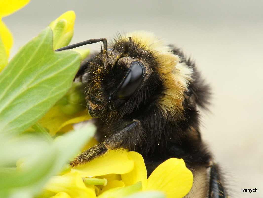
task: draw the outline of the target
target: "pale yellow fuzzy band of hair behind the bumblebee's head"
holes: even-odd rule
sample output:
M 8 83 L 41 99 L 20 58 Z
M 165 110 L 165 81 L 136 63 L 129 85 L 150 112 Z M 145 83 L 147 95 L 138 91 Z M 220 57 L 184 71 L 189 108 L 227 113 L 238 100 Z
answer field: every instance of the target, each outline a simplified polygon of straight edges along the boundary
M 160 112 L 167 119 L 171 116 L 180 118 L 184 111 L 184 92 L 192 80 L 193 69 L 184 62 L 179 63 L 180 57 L 172 52 L 173 48 L 151 32 L 135 31 L 122 36 L 123 39 L 128 37 L 145 51 L 151 51 L 160 65 L 156 67 L 156 71 L 163 79 L 165 87 L 158 98 Z

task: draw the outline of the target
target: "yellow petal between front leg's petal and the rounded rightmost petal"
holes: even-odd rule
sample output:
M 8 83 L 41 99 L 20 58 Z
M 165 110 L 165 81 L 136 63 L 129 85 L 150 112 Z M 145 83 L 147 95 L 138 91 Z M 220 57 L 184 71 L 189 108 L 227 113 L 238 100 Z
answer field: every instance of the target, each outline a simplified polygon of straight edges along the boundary
M 122 174 L 122 181 L 125 183 L 125 186 L 130 186 L 141 181 L 144 190 L 147 183 L 147 172 L 143 157 L 134 151 L 129 151 L 128 154 L 135 162 L 134 169 L 129 173 Z

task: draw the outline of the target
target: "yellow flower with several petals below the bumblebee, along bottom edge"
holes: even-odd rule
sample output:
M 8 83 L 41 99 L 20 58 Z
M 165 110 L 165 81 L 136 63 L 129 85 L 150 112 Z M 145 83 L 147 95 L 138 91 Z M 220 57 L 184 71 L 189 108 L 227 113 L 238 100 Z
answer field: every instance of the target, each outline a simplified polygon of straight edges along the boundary
M 139 191 L 161 191 L 167 198 L 182 198 L 192 185 L 193 174 L 182 159 L 166 160 L 147 179 L 144 160 L 139 153 L 109 150 L 102 157 L 52 178 L 40 197 L 85 197 L 89 194 L 90 197 L 119 198 Z M 83 196 L 80 196 L 82 191 Z

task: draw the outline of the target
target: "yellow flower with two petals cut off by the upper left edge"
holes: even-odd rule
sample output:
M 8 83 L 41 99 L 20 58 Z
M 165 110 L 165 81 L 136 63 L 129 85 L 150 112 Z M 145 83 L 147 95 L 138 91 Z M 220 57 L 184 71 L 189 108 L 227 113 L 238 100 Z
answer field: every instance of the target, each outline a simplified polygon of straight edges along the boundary
M 0 72 L 8 63 L 8 56 L 13 44 L 13 37 L 8 27 L 2 21 L 2 17 L 24 7 L 30 0 L 0 0 Z

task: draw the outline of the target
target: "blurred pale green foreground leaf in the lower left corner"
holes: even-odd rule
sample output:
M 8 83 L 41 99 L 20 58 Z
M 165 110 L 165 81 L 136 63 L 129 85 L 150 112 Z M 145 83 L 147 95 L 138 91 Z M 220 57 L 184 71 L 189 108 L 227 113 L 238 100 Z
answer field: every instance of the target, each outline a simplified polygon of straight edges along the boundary
M 79 131 L 55 139 L 50 145 L 37 138 L 0 139 L 0 166 L 19 157 L 17 168 L 0 168 L 0 197 L 32 197 L 41 192 L 48 179 L 57 173 L 78 149 L 94 135 L 95 126 L 86 125 Z M 11 159 L 10 159 L 11 158 Z

